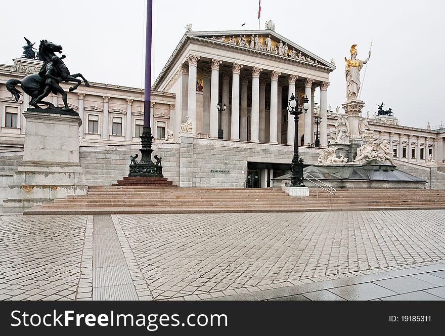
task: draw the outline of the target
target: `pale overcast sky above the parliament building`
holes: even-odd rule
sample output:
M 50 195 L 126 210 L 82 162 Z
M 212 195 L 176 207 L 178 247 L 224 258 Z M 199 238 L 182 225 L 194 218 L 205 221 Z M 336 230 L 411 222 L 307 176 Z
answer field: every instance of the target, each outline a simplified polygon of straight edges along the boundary
M 63 47 L 71 72 L 88 80 L 136 88 L 144 80 L 145 1 L 47 1 L 2 3 L 0 63 L 22 55 L 23 36 Z M 442 56 L 445 5 L 419 1 L 261 0 L 260 28 L 271 19 L 276 32 L 329 61 L 328 104 L 345 101 L 344 57 L 357 44 L 358 58 L 372 56 L 361 71 L 364 112 L 383 102 L 400 124 L 426 128 L 445 123 Z M 258 0 L 154 0 L 152 83 L 184 35 L 193 31 L 258 29 Z M 319 90 L 316 93 L 319 102 Z

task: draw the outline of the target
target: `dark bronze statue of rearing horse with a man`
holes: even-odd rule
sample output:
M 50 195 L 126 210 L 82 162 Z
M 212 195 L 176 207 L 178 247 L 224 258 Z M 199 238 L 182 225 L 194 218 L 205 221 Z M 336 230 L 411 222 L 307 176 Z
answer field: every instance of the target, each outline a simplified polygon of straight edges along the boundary
M 15 86 L 20 84 L 22 90 L 31 97 L 29 105 L 35 108 L 39 108 L 38 104 L 55 107 L 52 103 L 42 100 L 52 92 L 55 95 L 60 93 L 65 109 L 69 109 L 66 93 L 59 83 L 62 81 L 76 82 L 76 85 L 69 88 L 69 91 L 72 92 L 81 84 L 82 81 L 77 79 L 77 77 L 81 77 L 85 86 L 90 87 L 90 83 L 88 83 L 81 73 L 70 74 L 65 63 L 62 61 L 65 55 L 57 57 L 56 52 L 62 53 L 62 46 L 55 45 L 46 39 L 41 40 L 38 55 L 39 59 L 43 61 L 43 66 L 40 71 L 27 75 L 21 81 L 16 78 L 11 78 L 6 82 L 7 90 L 11 92 L 16 101 L 20 99 L 21 92 L 17 90 Z

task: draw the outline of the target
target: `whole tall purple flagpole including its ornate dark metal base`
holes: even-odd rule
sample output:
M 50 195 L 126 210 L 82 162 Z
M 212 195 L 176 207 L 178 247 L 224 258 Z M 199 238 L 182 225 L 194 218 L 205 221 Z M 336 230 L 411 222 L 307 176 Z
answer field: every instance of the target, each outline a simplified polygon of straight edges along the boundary
M 151 37 L 153 0 L 147 0 L 147 30 L 145 43 L 145 87 L 144 87 L 144 125 L 141 134 L 141 160 L 132 161 L 128 176 L 164 177 L 162 175 L 161 158 L 155 155 L 156 163 L 151 159 L 153 135 L 150 126 L 150 93 L 151 93 Z

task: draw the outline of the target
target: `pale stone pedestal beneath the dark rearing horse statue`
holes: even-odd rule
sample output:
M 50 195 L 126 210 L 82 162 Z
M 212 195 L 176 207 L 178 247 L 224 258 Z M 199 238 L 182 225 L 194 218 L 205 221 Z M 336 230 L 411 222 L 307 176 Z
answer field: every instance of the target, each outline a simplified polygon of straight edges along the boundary
M 23 161 L 9 186 L 4 206 L 32 206 L 88 187 L 79 162 L 79 127 L 75 111 L 28 109 Z

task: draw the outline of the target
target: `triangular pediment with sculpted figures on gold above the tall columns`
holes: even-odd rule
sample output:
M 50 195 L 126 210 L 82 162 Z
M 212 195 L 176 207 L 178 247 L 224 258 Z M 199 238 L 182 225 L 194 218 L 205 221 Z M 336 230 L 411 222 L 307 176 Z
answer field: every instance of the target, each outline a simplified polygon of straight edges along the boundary
M 335 65 L 272 30 L 187 32 L 186 36 L 206 40 L 212 44 L 225 45 L 228 48 L 240 48 L 240 51 L 274 55 L 307 65 L 335 69 Z

